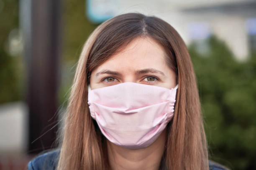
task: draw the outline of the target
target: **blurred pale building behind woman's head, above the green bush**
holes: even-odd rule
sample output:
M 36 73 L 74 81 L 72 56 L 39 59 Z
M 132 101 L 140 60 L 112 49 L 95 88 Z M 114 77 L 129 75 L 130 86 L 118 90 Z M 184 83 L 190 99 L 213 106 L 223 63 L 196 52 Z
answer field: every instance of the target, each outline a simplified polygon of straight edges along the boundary
M 87 1 L 87 16 L 96 23 L 128 12 L 166 20 L 187 44 L 216 35 L 225 41 L 237 60 L 246 60 L 250 51 L 256 48 L 255 0 Z

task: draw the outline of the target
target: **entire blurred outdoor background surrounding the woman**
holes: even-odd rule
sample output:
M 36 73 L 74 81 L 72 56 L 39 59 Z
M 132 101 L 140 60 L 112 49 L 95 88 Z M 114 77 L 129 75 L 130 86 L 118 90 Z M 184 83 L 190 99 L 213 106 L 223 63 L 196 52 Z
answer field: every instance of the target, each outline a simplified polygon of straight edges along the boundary
M 56 147 L 82 45 L 128 12 L 166 20 L 186 42 L 210 159 L 256 169 L 255 0 L 0 0 L 0 170 Z

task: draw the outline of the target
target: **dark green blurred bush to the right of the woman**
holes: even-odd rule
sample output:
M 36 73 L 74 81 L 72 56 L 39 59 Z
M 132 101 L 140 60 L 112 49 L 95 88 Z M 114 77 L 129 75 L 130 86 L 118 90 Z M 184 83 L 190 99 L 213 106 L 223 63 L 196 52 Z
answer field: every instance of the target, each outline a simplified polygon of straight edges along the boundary
M 246 62 L 216 37 L 200 54 L 189 46 L 199 87 L 210 159 L 232 170 L 256 169 L 256 55 Z

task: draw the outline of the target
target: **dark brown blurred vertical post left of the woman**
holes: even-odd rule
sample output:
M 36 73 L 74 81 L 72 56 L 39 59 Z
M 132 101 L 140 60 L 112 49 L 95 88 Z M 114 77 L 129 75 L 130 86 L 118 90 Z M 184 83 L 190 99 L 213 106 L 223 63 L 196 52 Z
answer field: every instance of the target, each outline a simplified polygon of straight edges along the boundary
M 28 66 L 28 149 L 29 153 L 38 153 L 52 148 L 56 139 L 56 127 L 50 129 L 57 123 L 55 113 L 58 106 L 61 1 L 30 0 L 29 2 L 30 32 L 29 35 L 25 35 Z

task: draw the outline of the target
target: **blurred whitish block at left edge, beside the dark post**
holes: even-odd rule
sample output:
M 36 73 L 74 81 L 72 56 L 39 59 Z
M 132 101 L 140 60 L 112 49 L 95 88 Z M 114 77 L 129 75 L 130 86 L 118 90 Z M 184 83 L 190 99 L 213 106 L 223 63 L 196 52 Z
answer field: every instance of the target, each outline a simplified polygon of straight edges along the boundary
M 28 109 L 25 103 L 0 105 L 0 154 L 23 153 L 28 142 Z

